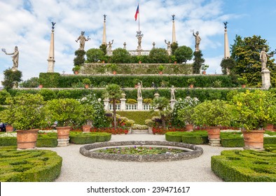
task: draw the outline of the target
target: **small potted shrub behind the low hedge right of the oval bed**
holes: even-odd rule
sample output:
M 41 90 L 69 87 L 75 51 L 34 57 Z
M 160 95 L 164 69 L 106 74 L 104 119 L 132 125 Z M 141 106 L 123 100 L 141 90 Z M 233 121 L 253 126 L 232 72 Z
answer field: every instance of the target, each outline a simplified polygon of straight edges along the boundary
M 199 104 L 198 99 L 194 99 L 191 97 L 186 97 L 184 102 L 181 102 L 181 109 L 177 111 L 177 118 L 181 123 L 186 124 L 186 131 L 192 132 L 193 131 L 193 118 L 192 115 L 195 112 L 195 106 Z

